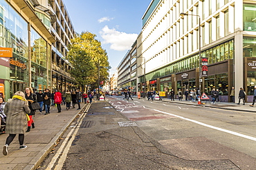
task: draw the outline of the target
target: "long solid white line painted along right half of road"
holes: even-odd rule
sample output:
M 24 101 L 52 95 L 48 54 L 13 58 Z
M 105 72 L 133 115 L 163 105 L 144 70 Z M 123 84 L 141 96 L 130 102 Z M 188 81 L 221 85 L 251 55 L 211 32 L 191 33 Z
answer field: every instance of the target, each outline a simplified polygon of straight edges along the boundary
M 181 118 L 181 119 L 183 119 L 183 120 L 188 120 L 188 121 L 190 121 L 190 122 L 192 122 L 192 123 L 196 123 L 196 124 L 202 125 L 202 126 L 204 126 L 204 127 L 209 127 L 209 128 L 211 128 L 211 129 L 215 129 L 215 130 L 218 130 L 218 131 L 223 131 L 223 132 L 226 132 L 226 133 L 228 133 L 228 134 L 232 134 L 232 135 L 235 135 L 235 136 L 239 136 L 239 137 L 241 137 L 241 138 L 246 138 L 246 139 L 249 139 L 249 140 L 256 141 L 256 138 L 254 138 L 254 137 L 252 137 L 252 136 L 247 136 L 247 135 L 244 135 L 244 134 L 239 134 L 239 133 L 237 133 L 237 132 L 235 132 L 235 131 L 230 131 L 230 130 L 222 129 L 222 128 L 219 128 L 219 127 L 214 127 L 214 126 L 212 126 L 212 125 L 207 125 L 207 124 L 205 124 L 205 123 L 201 123 L 201 122 L 199 122 L 199 121 L 192 120 L 192 119 L 190 119 L 190 118 L 184 118 L 183 116 L 178 116 L 178 115 L 175 115 L 175 114 L 170 114 L 170 113 L 167 113 L 167 112 L 165 112 L 165 111 L 160 111 L 160 110 L 157 110 L 157 109 L 154 109 L 154 111 L 158 111 L 158 112 L 163 113 L 163 114 L 169 114 L 169 115 L 174 116 L 174 117 L 176 117 L 176 118 Z

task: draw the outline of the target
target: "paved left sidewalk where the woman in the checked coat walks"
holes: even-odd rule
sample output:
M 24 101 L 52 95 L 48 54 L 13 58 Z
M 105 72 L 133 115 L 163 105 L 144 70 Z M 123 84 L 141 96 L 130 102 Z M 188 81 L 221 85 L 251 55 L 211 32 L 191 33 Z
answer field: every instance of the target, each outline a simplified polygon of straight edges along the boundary
M 81 108 L 85 104 L 81 103 Z M 77 107 L 77 105 L 76 105 Z M 51 114 L 39 114 L 37 111 L 34 121 L 35 129 L 25 134 L 27 149 L 19 150 L 18 135 L 8 148 L 8 155 L 3 156 L 2 148 L 8 134 L 0 135 L 0 167 L 1 169 L 35 169 L 54 147 L 55 142 L 64 134 L 66 129 L 75 120 L 77 114 L 83 109 L 66 110 L 62 105 L 62 112 L 57 113 L 57 107 L 51 106 Z

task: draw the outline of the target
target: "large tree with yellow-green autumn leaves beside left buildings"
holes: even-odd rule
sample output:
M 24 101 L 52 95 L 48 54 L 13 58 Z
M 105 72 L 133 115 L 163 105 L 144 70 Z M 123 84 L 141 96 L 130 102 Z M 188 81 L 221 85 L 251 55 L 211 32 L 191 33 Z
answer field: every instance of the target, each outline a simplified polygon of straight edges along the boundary
M 98 72 L 100 81 L 107 81 L 109 69 L 107 52 L 101 47 L 100 41 L 91 32 L 76 34 L 68 47 L 67 60 L 71 63 L 71 76 L 81 87 L 91 85 L 91 89 L 98 87 Z

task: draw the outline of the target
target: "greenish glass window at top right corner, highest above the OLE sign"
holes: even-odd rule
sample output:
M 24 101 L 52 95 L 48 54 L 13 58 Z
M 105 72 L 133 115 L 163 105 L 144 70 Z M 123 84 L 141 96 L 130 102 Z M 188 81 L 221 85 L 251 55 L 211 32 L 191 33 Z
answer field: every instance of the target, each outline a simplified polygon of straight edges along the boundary
M 244 31 L 256 31 L 256 6 L 244 3 Z

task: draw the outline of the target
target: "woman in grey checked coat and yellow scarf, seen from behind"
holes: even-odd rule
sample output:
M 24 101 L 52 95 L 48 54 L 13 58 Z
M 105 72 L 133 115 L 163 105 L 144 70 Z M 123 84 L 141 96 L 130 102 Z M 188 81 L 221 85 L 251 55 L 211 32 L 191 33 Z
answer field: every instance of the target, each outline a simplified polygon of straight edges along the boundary
M 9 134 L 8 138 L 6 138 L 6 145 L 3 146 L 3 155 L 6 156 L 8 154 L 8 147 L 16 134 L 19 134 L 19 149 L 27 147 L 24 145 L 24 134 L 28 125 L 26 114 L 30 114 L 30 109 L 24 92 L 16 92 L 12 99 L 6 103 L 4 112 L 7 116 L 6 133 Z

